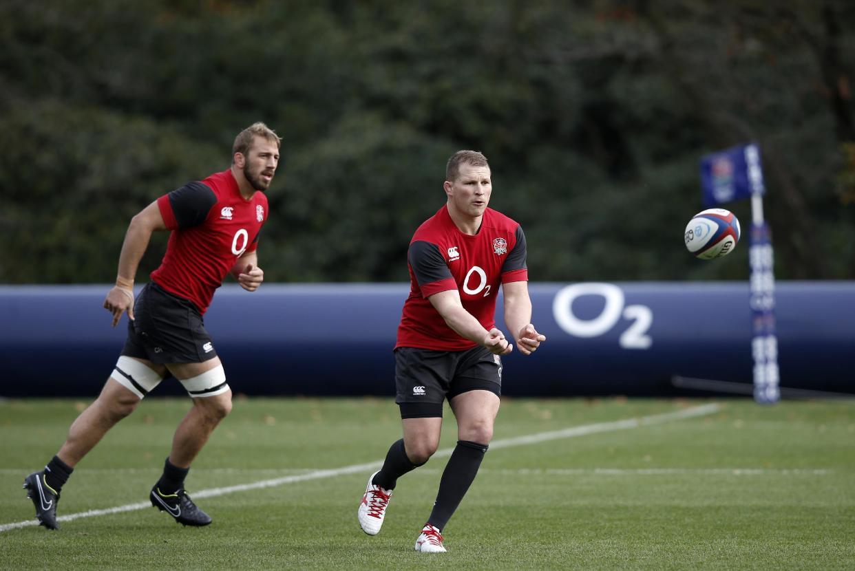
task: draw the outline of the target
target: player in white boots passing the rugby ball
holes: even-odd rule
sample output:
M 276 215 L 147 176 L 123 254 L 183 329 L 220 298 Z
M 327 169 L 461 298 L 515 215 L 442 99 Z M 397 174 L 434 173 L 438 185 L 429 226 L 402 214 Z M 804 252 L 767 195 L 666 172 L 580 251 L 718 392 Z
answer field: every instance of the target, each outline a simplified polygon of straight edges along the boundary
M 420 226 L 408 252 L 410 296 L 395 346 L 395 384 L 404 438 L 369 476 L 357 517 L 376 535 L 398 478 L 439 446 L 443 403 L 457 418 L 457 446 L 439 479 L 433 511 L 416 551 L 444 552 L 442 530 L 475 480 L 492 439 L 502 388 L 502 360 L 516 344 L 531 355 L 546 338 L 532 325 L 522 227 L 487 208 L 490 166 L 460 150 L 445 168 L 446 203 Z M 498 287 L 513 343 L 495 327 Z

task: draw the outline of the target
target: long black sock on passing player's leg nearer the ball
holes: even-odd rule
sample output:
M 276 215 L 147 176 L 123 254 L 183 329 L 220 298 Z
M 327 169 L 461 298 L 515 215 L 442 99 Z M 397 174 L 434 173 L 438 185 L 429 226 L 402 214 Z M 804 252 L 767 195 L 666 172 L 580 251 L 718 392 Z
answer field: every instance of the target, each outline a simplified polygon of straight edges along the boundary
M 457 446 L 454 447 L 451 458 L 445 464 L 442 478 L 439 479 L 439 493 L 428 519 L 430 525 L 441 531 L 451 519 L 454 510 L 475 480 L 486 449 L 486 444 L 457 440 Z

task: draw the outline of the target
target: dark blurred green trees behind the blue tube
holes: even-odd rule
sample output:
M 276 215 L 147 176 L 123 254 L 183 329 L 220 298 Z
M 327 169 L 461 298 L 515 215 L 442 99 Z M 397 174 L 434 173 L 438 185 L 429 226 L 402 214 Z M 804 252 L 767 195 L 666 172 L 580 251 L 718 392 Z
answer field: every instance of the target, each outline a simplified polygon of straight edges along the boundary
M 6 0 L 0 47 L 0 283 L 112 281 L 131 216 L 258 120 L 268 280 L 407 280 L 463 148 L 533 280 L 745 279 L 747 239 L 699 262 L 682 232 L 700 156 L 747 141 L 777 276 L 855 278 L 846 0 Z

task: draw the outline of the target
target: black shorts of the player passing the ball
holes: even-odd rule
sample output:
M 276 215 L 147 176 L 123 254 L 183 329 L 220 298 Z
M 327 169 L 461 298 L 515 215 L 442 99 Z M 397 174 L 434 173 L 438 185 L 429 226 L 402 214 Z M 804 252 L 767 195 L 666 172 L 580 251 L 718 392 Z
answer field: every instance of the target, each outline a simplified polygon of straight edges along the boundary
M 395 388 L 401 418 L 441 417 L 445 398 L 476 390 L 501 396 L 502 360 L 484 347 L 464 351 L 398 347 Z

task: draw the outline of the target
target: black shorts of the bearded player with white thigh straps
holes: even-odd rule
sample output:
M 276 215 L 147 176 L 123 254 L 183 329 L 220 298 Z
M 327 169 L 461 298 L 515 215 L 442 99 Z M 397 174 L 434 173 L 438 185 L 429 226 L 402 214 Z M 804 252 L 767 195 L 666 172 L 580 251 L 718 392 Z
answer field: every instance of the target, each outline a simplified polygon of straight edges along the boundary
M 196 305 L 153 281 L 139 292 L 133 315 L 122 355 L 157 363 L 203 362 L 216 356 Z

